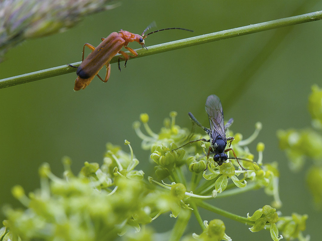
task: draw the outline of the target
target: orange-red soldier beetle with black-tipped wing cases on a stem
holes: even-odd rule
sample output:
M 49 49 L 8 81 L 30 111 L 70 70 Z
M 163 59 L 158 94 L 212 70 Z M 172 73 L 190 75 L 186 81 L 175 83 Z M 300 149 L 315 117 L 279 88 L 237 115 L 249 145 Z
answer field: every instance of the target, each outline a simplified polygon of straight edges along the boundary
M 126 67 L 126 63 L 129 58 L 137 57 L 137 52 L 134 49 L 131 49 L 128 47 L 128 43 L 130 42 L 138 42 L 141 44 L 142 48 L 146 48 L 144 39 L 152 34 L 156 33 L 159 31 L 163 30 L 169 30 L 169 29 L 181 29 L 181 30 L 186 30 L 186 31 L 191 31 L 189 29 L 183 29 L 183 28 L 166 28 L 166 29 L 160 29 L 156 30 L 153 32 L 150 32 L 146 35 L 144 33 L 151 28 L 151 25 L 155 24 L 154 22 L 150 24 L 141 35 L 139 34 L 134 34 L 125 30 L 120 30 L 118 32 L 112 32 L 107 38 L 101 38 L 102 42 L 97 46 L 96 48 L 89 44 L 85 43 L 83 47 L 83 53 L 82 53 L 82 63 L 79 67 L 73 66 L 68 64 L 68 66 L 75 67 L 77 68 L 76 74 L 78 75 L 76 80 L 75 80 L 75 86 L 74 90 L 80 90 L 80 89 L 85 89 L 87 85 L 90 84 L 92 79 L 95 76 L 98 76 L 101 81 L 107 82 L 109 80 L 109 75 L 110 75 L 110 63 L 109 61 L 116 55 L 116 54 L 121 54 L 123 57 L 118 57 L 118 69 L 121 71 L 120 67 L 120 60 L 125 60 L 124 67 Z M 85 46 L 90 48 L 92 52 L 84 59 L 84 51 L 85 51 Z M 128 55 L 124 51 L 121 51 L 122 47 L 130 51 L 133 56 Z M 99 70 L 103 67 L 106 66 L 106 75 L 105 78 L 102 79 L 99 76 Z

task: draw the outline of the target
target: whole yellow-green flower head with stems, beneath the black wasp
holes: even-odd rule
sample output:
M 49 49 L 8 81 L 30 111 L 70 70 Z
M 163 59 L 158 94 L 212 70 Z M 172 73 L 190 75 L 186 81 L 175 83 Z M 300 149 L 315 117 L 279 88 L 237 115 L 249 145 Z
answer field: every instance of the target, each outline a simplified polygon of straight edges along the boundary
M 176 149 L 190 135 L 187 129 L 175 125 L 176 115 L 171 112 L 171 119 L 164 121 L 164 127 L 157 134 L 149 128 L 147 114 L 142 114 L 140 119 L 148 135 L 140 130 L 139 122 L 134 124 L 142 139 L 142 148 L 150 150 L 150 163 L 155 165 L 154 177 L 145 177 L 143 170 L 135 169 L 139 161 L 127 140 L 125 145 L 128 145 L 129 153 L 108 143 L 103 163 L 85 162 L 78 175 L 71 172 L 68 157 L 63 158 L 63 178 L 55 176 L 45 163 L 39 169 L 39 190 L 26 195 L 21 186 L 12 189 L 14 197 L 25 208 L 4 208 L 7 220 L 0 229 L 0 240 L 99 241 L 115 240 L 119 236 L 120 240 L 155 240 L 155 232 L 148 224 L 164 213 L 170 213 L 170 217 L 176 219 L 169 240 L 182 237 L 191 213 L 200 224 L 200 228 L 193 231 L 200 235 L 190 233 L 185 240 L 232 240 L 225 233 L 222 220 L 213 219 L 208 224 L 202 220 L 198 207 L 251 225 L 251 232 L 269 229 L 274 241 L 282 238 L 279 231 L 288 239 L 304 240 L 306 215 L 279 217 L 275 208 L 265 205 L 252 216 L 241 217 L 205 201 L 264 188 L 274 198 L 271 205 L 281 205 L 277 165 L 263 163 L 263 143 L 257 146 L 259 158 L 256 163 L 246 147 L 256 138 L 261 124 L 255 125 L 250 138 L 243 139 L 241 134 L 236 134 L 237 138 L 232 142 L 241 164 L 248 169 L 242 170 L 234 159 L 221 166 L 213 163 L 211 157 L 207 160 L 209 143 L 194 142 Z M 232 131 L 227 130 L 227 135 L 232 136 Z M 202 137 L 206 136 L 194 134 L 192 138 Z

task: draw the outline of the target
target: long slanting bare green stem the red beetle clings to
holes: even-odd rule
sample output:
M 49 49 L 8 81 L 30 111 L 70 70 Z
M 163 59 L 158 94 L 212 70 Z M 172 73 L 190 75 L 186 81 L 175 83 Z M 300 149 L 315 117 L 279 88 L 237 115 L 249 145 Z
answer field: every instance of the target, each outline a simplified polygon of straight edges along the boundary
M 230 30 L 224 30 L 209 34 L 204 34 L 200 36 L 195 36 L 187 39 L 176 40 L 168 43 L 158 44 L 150 46 L 147 49 L 137 49 L 137 58 L 144 57 L 156 53 L 162 53 L 170 50 L 181 49 L 185 47 L 190 47 L 198 44 L 213 42 L 217 40 L 229 39 L 237 36 L 242 36 L 250 33 L 266 31 L 270 29 L 276 29 L 280 27 L 291 26 L 304 22 L 311 22 L 322 19 L 322 11 L 317 11 L 313 13 L 306 13 L 294 17 L 282 18 L 278 20 L 273 20 L 269 22 L 262 22 L 257 24 L 252 24 L 244 27 L 234 28 Z M 129 52 L 127 52 L 129 53 Z M 116 63 L 120 54 L 117 54 L 114 58 L 111 59 L 110 63 Z M 78 66 L 81 62 L 72 63 L 71 65 Z M 40 80 L 48 77 L 63 75 L 71 72 L 75 72 L 76 68 L 69 67 L 67 65 L 62 65 L 59 67 L 53 67 L 49 69 L 44 69 L 29 74 L 9 77 L 0 80 L 0 88 L 5 88 L 9 86 L 24 84 L 32 82 L 35 80 Z

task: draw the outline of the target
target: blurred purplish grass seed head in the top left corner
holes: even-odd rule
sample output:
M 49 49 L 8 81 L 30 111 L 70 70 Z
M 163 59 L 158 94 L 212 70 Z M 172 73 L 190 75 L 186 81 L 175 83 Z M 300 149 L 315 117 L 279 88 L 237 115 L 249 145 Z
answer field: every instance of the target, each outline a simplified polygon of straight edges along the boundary
M 5 52 L 28 38 L 65 31 L 81 17 L 112 9 L 115 0 L 0 0 L 0 62 Z

